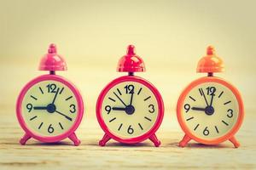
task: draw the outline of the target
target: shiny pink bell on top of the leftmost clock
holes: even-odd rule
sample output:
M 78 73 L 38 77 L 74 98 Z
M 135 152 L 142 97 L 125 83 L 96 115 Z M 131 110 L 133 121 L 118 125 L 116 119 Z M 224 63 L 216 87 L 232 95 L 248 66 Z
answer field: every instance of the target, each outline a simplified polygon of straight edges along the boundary
M 67 71 L 66 61 L 60 54 L 57 54 L 54 43 L 49 44 L 48 54 L 41 59 L 39 71 Z

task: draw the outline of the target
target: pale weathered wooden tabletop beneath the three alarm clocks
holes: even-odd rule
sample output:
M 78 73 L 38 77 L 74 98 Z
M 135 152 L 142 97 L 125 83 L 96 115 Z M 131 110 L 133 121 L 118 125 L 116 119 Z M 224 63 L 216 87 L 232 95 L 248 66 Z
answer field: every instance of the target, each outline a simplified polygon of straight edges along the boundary
M 162 144 L 155 148 L 150 141 L 128 146 L 111 140 L 107 146 L 98 146 L 102 130 L 95 116 L 84 117 L 77 134 L 82 144 L 73 146 L 68 139 L 59 144 L 42 144 L 33 139 L 20 145 L 23 134 L 12 110 L 0 112 L 0 169 L 254 169 L 256 168 L 256 133 L 253 114 L 246 116 L 236 137 L 239 149 L 230 142 L 215 146 L 190 142 L 186 148 L 177 147 L 183 137 L 177 125 L 174 110 L 166 113 L 157 135 Z M 253 113 L 253 111 L 252 111 Z

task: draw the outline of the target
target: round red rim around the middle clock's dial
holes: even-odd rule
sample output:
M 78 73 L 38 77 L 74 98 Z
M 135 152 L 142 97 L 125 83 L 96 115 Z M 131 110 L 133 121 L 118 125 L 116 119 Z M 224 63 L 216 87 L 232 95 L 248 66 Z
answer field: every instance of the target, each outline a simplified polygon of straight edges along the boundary
M 157 100 L 159 115 L 157 116 L 157 119 L 154 122 L 153 127 L 151 127 L 151 129 L 148 130 L 148 132 L 143 133 L 142 135 L 134 137 L 134 138 L 124 139 L 124 138 L 121 138 L 121 137 L 116 136 L 115 134 L 111 133 L 110 130 L 108 129 L 108 126 L 106 125 L 106 123 L 104 122 L 104 120 L 102 118 L 102 103 L 103 103 L 104 97 L 106 96 L 106 94 L 108 93 L 108 91 L 111 88 L 113 88 L 115 85 L 117 85 L 121 82 L 128 82 L 128 81 L 129 82 L 139 82 L 139 83 L 143 84 L 144 86 L 146 86 L 147 88 L 149 88 L 153 92 L 153 94 Z M 97 120 L 98 120 L 100 126 L 102 127 L 102 130 L 111 139 L 114 139 L 116 141 L 119 141 L 120 143 L 125 143 L 125 144 L 140 143 L 140 142 L 143 142 L 144 140 L 150 138 L 152 135 L 154 135 L 154 133 L 159 129 L 161 122 L 163 121 L 164 112 L 165 112 L 164 101 L 163 101 L 158 89 L 155 88 L 151 82 L 148 82 L 147 80 L 143 79 L 142 77 L 137 77 L 137 76 L 118 77 L 118 78 L 114 79 L 112 82 L 109 82 L 108 85 L 102 89 L 102 92 L 99 95 L 97 102 L 96 102 L 96 117 L 97 117 Z

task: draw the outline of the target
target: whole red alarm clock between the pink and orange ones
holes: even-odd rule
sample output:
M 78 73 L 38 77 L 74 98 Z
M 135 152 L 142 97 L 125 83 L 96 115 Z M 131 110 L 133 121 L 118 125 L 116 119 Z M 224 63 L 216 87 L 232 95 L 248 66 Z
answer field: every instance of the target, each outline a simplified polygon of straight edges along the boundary
M 143 59 L 129 45 L 127 54 L 119 59 L 117 71 L 128 72 L 102 90 L 96 103 L 96 117 L 105 132 L 99 145 L 109 139 L 124 144 L 136 144 L 150 139 L 160 146 L 155 133 L 164 116 L 164 103 L 157 88 L 134 72 L 145 71 Z

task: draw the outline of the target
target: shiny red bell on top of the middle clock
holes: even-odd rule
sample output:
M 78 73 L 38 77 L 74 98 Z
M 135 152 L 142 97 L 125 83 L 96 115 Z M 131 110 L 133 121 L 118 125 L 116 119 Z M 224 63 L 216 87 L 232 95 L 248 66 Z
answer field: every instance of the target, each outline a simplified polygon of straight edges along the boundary
M 143 72 L 146 71 L 143 59 L 135 53 L 135 47 L 129 45 L 127 54 L 119 59 L 117 67 L 119 72 Z

